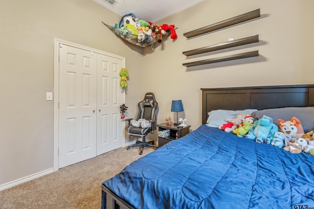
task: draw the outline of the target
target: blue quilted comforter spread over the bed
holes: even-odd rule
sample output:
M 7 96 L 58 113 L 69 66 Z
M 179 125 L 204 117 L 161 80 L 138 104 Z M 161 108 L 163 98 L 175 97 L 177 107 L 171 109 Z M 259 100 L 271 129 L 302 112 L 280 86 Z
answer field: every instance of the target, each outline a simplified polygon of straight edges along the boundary
M 137 209 L 314 207 L 314 156 L 201 125 L 104 185 Z

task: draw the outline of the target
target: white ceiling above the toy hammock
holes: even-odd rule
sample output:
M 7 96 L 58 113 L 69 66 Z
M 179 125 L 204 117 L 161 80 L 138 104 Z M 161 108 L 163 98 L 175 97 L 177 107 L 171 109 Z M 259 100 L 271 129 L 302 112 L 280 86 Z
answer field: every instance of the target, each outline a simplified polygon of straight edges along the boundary
M 123 16 L 133 13 L 136 18 L 156 23 L 205 0 L 94 0 L 110 11 Z M 115 3 L 111 5 L 110 3 Z

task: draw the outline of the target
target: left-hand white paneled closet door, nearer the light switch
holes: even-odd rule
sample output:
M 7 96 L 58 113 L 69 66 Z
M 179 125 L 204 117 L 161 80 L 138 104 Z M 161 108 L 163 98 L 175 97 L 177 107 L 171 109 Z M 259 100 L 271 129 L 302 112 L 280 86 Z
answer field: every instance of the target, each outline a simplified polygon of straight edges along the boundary
M 59 47 L 59 168 L 96 156 L 97 55 Z

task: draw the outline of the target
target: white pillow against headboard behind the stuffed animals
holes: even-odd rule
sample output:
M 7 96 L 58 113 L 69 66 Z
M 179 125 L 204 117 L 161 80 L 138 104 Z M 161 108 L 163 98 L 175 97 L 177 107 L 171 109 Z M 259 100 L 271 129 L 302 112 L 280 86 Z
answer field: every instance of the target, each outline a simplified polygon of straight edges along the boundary
M 239 113 L 246 113 L 252 115 L 255 109 L 246 110 L 213 110 L 208 113 L 209 117 L 207 119 L 206 125 L 209 127 L 218 128 L 218 126 L 225 124 L 225 119 L 234 118 Z

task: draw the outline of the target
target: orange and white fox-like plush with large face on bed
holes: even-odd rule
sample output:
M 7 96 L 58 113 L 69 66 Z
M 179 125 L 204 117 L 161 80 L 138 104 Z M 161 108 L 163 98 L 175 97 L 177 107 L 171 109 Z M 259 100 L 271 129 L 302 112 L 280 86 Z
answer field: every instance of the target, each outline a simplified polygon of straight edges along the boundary
M 298 118 L 292 117 L 290 120 L 278 119 L 281 132 L 288 135 L 292 139 L 302 138 L 304 130 Z

